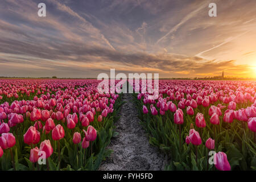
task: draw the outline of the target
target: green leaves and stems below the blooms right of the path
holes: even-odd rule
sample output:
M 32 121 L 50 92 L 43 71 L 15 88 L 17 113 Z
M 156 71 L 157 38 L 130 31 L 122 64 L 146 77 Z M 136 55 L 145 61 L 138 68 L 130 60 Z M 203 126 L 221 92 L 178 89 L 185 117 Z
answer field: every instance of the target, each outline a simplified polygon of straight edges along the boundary
M 256 169 L 256 144 L 253 142 L 253 134 L 248 129 L 243 129 L 240 121 L 234 121 L 231 124 L 223 123 L 222 115 L 220 117 L 220 126 L 213 126 L 210 123 L 208 114 L 209 107 L 204 109 L 199 106 L 194 110 L 195 115 L 197 112 L 203 113 L 207 123 L 207 127 L 201 130 L 195 125 L 195 116 L 189 116 L 183 110 L 184 123 L 181 125 L 180 146 L 179 128 L 174 123 L 174 113 L 168 110 L 164 115 L 158 114 L 154 116 L 151 114 L 150 104 L 146 104 L 148 113 L 143 114 L 143 97 L 141 100 L 138 100 L 137 94 L 134 94 L 134 102 L 138 109 L 138 117 L 141 119 L 141 125 L 148 134 L 149 143 L 152 146 L 158 147 L 170 159 L 170 164 L 164 168 L 165 170 L 216 170 L 214 165 L 208 165 L 208 157 L 210 156 L 208 156 L 209 150 L 205 147 L 206 140 L 209 137 L 214 138 L 214 127 L 216 127 L 217 131 L 214 151 L 225 152 L 233 170 Z M 177 102 L 173 102 L 177 106 Z M 197 162 L 195 146 L 185 143 L 185 137 L 189 134 L 191 123 L 199 131 L 202 139 L 202 144 L 197 146 Z

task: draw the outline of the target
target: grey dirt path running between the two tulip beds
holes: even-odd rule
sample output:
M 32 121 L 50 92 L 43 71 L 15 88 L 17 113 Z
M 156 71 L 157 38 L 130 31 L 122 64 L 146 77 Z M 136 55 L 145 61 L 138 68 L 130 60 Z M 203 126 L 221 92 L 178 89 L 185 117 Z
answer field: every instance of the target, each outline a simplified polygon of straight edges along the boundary
M 108 146 L 114 152 L 101 164 L 99 170 L 163 170 L 166 158 L 148 143 L 139 124 L 132 94 L 123 94 L 126 101 L 121 107 L 121 117 L 115 123 L 119 134 Z

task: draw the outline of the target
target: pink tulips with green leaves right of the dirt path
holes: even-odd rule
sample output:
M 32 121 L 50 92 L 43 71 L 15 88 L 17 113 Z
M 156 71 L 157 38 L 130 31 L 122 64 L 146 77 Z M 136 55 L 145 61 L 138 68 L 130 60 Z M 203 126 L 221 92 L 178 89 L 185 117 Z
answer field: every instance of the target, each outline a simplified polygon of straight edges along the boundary
M 170 158 L 166 170 L 255 170 L 255 89 L 255 81 L 161 80 L 157 100 L 139 93 L 134 102 L 149 142 Z

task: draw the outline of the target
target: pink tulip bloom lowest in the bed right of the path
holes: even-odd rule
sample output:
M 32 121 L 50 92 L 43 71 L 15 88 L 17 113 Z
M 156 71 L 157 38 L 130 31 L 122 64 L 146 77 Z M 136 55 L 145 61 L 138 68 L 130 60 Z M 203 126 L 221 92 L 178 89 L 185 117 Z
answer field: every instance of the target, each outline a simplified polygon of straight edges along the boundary
M 220 171 L 230 171 L 231 167 L 224 152 L 214 154 L 215 167 Z

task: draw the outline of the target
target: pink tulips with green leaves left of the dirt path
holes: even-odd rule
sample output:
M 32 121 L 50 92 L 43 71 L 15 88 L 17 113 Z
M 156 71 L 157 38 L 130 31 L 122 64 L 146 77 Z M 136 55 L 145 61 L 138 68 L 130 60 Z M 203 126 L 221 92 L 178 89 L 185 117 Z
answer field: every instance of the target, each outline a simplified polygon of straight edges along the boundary
M 0 170 L 97 170 L 122 102 L 97 80 L 0 80 Z

